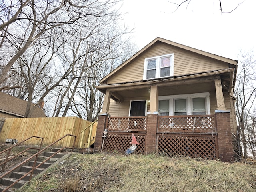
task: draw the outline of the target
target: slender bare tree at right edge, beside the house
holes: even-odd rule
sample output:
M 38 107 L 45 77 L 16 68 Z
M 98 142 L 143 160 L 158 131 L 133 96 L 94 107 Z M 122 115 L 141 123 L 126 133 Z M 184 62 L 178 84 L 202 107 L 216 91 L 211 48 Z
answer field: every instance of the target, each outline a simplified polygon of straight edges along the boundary
M 235 95 L 236 116 L 240 126 L 240 135 L 242 140 L 244 158 L 255 153 L 252 150 L 252 140 L 255 141 L 255 100 L 256 100 L 256 60 L 252 52 L 241 54 L 240 65 L 238 65 L 238 74 L 236 80 Z M 249 147 L 249 149 L 248 149 Z M 250 151 L 249 151 L 250 150 Z

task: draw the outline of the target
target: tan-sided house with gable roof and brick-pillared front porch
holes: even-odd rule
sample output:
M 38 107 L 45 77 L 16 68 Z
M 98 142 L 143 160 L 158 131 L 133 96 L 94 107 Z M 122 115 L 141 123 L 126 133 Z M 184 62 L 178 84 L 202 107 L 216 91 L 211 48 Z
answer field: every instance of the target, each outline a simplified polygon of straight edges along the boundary
M 96 87 L 105 97 L 94 151 L 125 152 L 134 133 L 137 153 L 234 161 L 237 63 L 154 39 Z

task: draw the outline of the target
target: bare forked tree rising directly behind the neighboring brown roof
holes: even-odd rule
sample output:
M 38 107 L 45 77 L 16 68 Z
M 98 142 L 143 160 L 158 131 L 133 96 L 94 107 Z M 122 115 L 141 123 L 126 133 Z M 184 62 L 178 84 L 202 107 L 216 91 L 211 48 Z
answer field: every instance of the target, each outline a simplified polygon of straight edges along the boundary
M 53 30 L 54 31 L 54 30 Z M 48 46 L 44 46 L 46 43 Z M 58 45 L 56 45 L 58 43 Z M 34 44 L 26 50 L 26 54 L 18 59 L 20 65 L 20 76 L 25 81 L 27 108 L 24 117 L 30 114 L 32 100 L 40 98 L 42 92 L 46 89 L 48 82 L 52 81 L 50 70 L 54 64 L 56 52 L 63 42 L 56 41 L 56 36 L 44 39 L 42 43 Z

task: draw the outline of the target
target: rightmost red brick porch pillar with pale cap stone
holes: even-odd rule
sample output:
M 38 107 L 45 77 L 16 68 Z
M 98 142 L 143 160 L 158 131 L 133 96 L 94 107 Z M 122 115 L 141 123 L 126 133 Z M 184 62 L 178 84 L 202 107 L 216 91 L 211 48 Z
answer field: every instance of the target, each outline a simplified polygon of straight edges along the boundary
M 234 151 L 230 127 L 230 110 L 215 110 L 218 132 L 218 154 L 223 162 L 234 162 Z

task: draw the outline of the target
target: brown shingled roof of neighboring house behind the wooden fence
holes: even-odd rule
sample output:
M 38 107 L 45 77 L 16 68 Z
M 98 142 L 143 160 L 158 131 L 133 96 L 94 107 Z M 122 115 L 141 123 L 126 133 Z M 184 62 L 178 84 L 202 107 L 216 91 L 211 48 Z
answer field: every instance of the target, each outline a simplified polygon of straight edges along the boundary
M 27 107 L 27 101 L 16 98 L 9 94 L 0 92 L 0 112 L 12 114 L 17 117 L 24 117 Z M 31 108 L 34 103 L 32 103 Z M 46 117 L 41 108 L 36 108 L 30 117 Z

